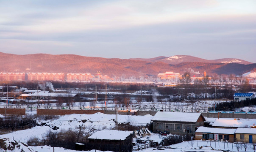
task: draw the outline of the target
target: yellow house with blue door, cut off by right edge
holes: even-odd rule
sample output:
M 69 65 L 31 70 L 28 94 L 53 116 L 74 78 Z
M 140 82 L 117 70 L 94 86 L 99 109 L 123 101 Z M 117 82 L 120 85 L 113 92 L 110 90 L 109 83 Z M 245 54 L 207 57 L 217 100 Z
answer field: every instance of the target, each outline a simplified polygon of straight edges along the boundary
M 237 128 L 235 134 L 237 141 L 256 143 L 256 128 Z

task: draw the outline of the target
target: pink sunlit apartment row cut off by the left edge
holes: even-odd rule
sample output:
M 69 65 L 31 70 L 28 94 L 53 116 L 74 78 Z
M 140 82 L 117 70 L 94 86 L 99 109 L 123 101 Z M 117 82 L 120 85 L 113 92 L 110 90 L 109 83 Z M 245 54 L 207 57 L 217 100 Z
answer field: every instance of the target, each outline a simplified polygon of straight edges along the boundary
M 0 81 L 24 81 L 25 73 L 0 73 Z

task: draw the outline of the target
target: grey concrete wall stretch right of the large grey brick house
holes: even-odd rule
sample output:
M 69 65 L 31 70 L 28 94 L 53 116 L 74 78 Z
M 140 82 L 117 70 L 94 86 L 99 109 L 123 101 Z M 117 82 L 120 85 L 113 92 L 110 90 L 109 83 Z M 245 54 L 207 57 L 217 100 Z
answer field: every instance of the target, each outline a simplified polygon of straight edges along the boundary
M 217 118 L 218 113 L 211 113 L 211 112 L 206 112 L 202 113 L 203 117 L 211 117 L 211 118 Z M 256 114 L 250 114 L 250 113 L 220 113 L 220 118 L 245 118 L 245 119 L 255 119 Z

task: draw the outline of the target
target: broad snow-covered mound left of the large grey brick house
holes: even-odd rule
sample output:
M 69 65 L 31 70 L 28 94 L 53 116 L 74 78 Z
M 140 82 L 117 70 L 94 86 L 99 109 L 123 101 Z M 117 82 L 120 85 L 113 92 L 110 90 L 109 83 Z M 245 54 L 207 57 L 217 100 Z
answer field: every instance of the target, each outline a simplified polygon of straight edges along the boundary
M 43 121 L 45 125 L 59 129 L 79 128 L 80 126 L 85 128 L 85 132 L 91 132 L 93 130 L 112 129 L 115 127 L 115 114 L 70 114 L 61 116 L 57 120 Z M 120 115 L 117 116 L 118 123 L 130 123 L 131 125 L 139 126 L 150 123 L 153 118 L 151 115 L 145 116 L 130 116 Z M 56 128 L 55 127 L 55 128 Z

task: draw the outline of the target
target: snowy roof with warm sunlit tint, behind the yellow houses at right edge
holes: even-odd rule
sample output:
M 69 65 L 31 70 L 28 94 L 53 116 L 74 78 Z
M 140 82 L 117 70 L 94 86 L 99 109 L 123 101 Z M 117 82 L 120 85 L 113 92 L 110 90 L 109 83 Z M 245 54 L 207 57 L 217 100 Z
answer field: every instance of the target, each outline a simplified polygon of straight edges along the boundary
M 212 126 L 214 127 L 247 127 L 256 124 L 255 120 L 230 120 L 230 119 L 216 119 Z

